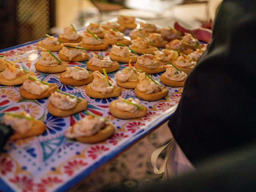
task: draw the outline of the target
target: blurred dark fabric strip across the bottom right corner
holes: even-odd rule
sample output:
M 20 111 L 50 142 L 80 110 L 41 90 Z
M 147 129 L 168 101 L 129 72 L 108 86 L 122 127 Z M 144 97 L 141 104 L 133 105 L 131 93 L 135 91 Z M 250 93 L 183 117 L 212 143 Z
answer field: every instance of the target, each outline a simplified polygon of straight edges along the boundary
M 195 172 L 152 182 L 141 188 L 109 189 L 108 192 L 255 192 L 256 143 L 250 143 L 201 163 Z

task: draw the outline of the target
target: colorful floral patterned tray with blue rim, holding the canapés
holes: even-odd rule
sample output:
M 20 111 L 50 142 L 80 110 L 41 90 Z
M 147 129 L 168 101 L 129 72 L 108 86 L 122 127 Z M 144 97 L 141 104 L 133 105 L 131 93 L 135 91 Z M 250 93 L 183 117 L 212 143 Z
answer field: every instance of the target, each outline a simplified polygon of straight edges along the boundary
M 82 30 L 84 29 L 80 29 Z M 126 35 L 128 33 L 129 30 L 126 30 Z M 148 107 L 148 113 L 143 118 L 114 118 L 108 112 L 108 105 L 117 98 L 93 99 L 86 95 L 85 86 L 66 86 L 61 84 L 60 74 L 37 72 L 34 68 L 34 63 L 40 56 L 40 51 L 36 50 L 37 41 L 0 50 L 0 55 L 26 70 L 34 71 L 40 80 L 55 83 L 60 90 L 87 99 L 88 110 L 109 119 L 116 126 L 116 133 L 98 144 L 68 140 L 63 135 L 64 131 L 84 117 L 83 112 L 66 118 L 54 117 L 47 110 L 48 98 L 28 100 L 20 96 L 20 86 L 0 86 L 0 119 L 5 112 L 25 110 L 47 125 L 46 132 L 40 136 L 6 144 L 4 152 L 0 154 L 0 190 L 3 192 L 63 192 L 70 189 L 168 120 L 181 97 L 181 88 L 168 87 L 169 94 L 166 98 L 155 102 L 142 100 L 142 104 Z M 108 57 L 109 50 L 95 53 Z M 69 63 L 69 66 L 75 65 L 86 67 L 86 62 Z M 128 64 L 120 63 L 120 69 L 127 66 Z M 115 80 L 114 73 L 108 75 Z M 160 74 L 152 77 L 160 80 Z M 135 97 L 134 90 L 124 89 L 121 96 Z

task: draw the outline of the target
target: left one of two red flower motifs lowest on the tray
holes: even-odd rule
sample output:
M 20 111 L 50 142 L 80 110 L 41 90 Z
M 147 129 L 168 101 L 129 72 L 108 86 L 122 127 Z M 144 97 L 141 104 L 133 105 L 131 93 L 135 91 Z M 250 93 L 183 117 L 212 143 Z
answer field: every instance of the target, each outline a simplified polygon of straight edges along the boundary
M 33 191 L 34 188 L 33 180 L 26 175 L 15 176 L 14 178 L 10 179 L 10 182 L 15 184 L 22 192 Z

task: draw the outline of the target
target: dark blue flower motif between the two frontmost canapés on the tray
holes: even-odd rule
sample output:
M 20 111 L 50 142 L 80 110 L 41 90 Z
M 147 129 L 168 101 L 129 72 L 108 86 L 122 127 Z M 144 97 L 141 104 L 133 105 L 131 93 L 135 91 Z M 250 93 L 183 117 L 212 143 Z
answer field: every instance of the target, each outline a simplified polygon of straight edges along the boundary
M 50 113 L 47 114 L 44 123 L 46 124 L 47 129 L 42 134 L 43 136 L 47 136 L 48 134 L 56 134 L 57 131 L 61 131 L 62 127 L 66 125 L 64 118 L 54 117 Z

